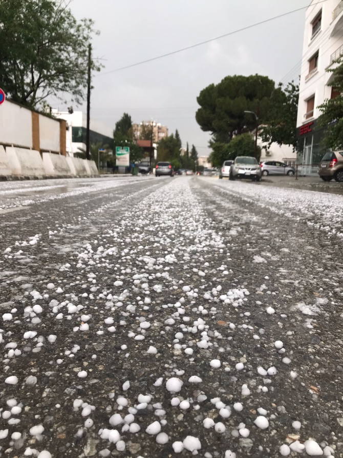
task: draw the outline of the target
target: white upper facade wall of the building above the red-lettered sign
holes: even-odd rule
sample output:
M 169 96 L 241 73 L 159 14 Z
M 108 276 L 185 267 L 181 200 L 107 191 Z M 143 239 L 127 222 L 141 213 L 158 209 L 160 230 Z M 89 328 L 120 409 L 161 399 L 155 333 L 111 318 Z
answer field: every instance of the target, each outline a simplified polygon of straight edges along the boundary
M 323 104 L 326 98 L 331 97 L 331 87 L 327 86 L 331 74 L 326 70 L 330 67 L 331 55 L 343 45 L 341 30 L 343 11 L 334 20 L 332 19 L 332 13 L 340 0 L 319 2 L 320 0 L 312 0 L 306 10 L 297 127 L 315 120 L 320 115 L 317 107 Z M 312 22 L 320 10 L 322 14 L 321 30 L 312 37 Z M 309 60 L 317 51 L 319 52 L 318 71 L 306 78 L 309 74 Z M 313 95 L 315 96 L 313 117 L 306 120 L 307 100 Z

